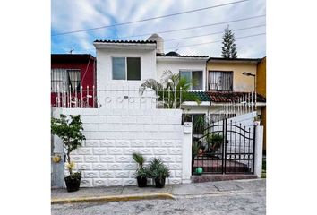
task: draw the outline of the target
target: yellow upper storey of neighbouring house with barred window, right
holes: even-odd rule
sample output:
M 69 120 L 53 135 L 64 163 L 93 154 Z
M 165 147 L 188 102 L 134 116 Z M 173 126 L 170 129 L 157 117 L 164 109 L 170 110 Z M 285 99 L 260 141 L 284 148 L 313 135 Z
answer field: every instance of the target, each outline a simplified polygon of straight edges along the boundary
M 207 61 L 208 93 L 211 98 L 211 112 L 218 107 L 228 105 L 236 99 L 250 98 L 256 87 L 258 58 L 226 59 L 210 57 Z M 255 96 L 253 94 L 253 103 Z M 265 107 L 265 97 L 257 91 L 257 114 Z

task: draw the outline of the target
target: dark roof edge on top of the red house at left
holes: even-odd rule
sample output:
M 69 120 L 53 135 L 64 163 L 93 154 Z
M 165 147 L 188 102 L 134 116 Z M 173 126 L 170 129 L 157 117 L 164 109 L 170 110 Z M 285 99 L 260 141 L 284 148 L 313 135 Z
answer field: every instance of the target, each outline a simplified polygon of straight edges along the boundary
M 95 60 L 90 54 L 51 54 L 51 63 L 87 63 L 90 58 Z

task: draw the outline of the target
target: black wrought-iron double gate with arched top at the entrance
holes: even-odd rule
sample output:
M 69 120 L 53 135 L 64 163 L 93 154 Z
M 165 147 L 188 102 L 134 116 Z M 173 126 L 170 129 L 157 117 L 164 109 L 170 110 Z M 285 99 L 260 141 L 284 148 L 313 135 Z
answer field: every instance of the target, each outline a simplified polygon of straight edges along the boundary
M 193 174 L 253 174 L 255 126 L 231 120 L 210 123 L 193 135 Z

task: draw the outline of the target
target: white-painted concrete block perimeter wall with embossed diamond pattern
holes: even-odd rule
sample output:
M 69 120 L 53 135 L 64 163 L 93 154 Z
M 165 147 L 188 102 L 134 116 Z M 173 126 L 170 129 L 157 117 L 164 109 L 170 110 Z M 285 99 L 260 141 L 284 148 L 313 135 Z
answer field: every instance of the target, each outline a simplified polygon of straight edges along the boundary
M 81 115 L 87 140 L 72 153 L 76 168 L 82 169 L 81 186 L 136 185 L 133 152 L 147 161 L 162 158 L 171 171 L 167 184 L 182 183 L 182 110 L 54 108 L 53 112 L 55 117 Z M 191 150 L 191 144 L 186 145 Z

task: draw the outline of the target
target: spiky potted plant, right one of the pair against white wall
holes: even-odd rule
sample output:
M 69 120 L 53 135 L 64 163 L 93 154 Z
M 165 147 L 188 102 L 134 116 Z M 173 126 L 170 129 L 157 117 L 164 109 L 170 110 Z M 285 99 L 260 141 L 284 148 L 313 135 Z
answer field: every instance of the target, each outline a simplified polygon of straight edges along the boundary
M 154 179 L 155 187 L 163 188 L 166 178 L 170 176 L 169 168 L 163 164 L 162 159 L 154 158 L 150 161 L 150 176 Z

